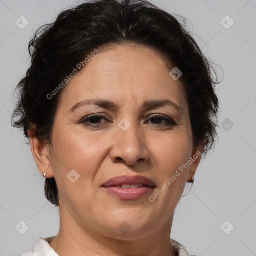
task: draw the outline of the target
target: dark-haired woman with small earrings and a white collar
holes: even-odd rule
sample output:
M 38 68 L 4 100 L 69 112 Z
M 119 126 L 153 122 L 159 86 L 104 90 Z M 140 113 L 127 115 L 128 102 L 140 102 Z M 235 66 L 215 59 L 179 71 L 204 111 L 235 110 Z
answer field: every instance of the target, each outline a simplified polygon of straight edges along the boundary
M 186 182 L 216 137 L 211 65 L 172 15 L 100 0 L 29 43 L 23 127 L 60 229 L 28 255 L 189 255 L 170 239 Z

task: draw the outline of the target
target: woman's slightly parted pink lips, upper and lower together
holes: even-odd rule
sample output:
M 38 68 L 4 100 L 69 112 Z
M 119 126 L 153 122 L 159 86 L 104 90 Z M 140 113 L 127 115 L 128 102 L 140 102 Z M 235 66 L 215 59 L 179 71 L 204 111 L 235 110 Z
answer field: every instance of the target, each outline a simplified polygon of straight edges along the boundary
M 135 200 L 151 192 L 155 185 L 143 176 L 117 176 L 106 181 L 102 187 L 114 197 Z

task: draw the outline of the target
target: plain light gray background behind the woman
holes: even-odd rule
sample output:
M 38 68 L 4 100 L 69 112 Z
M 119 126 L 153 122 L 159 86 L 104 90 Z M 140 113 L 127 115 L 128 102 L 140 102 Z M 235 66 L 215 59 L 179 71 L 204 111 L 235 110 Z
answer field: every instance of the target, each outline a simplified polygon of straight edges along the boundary
M 35 29 L 80 2 L 0 0 L 0 255 L 32 250 L 40 236 L 58 233 L 58 208 L 44 197 L 44 178 L 22 131 L 10 126 L 12 91 L 29 66 L 27 45 Z M 256 255 L 256 0 L 151 2 L 188 19 L 203 52 L 222 67 L 216 67 L 219 79 L 224 77 L 216 88 L 219 142 L 179 202 L 171 238 L 191 255 Z M 29 21 L 24 29 L 15 24 L 21 15 Z M 220 23 L 226 15 L 234 21 L 229 29 Z M 29 226 L 23 235 L 15 228 L 21 220 Z M 226 220 L 234 226 L 229 234 L 220 228 Z

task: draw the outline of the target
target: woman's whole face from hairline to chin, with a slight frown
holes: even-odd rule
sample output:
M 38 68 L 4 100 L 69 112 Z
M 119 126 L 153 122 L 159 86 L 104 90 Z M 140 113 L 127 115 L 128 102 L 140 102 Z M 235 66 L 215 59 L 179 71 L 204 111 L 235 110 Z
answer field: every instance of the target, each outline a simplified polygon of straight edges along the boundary
M 169 75 L 173 67 L 151 48 L 115 46 L 99 50 L 61 92 L 47 177 L 56 179 L 66 225 L 132 239 L 172 222 L 198 164 L 180 171 L 197 149 L 184 87 Z M 153 103 L 162 100 L 173 104 Z

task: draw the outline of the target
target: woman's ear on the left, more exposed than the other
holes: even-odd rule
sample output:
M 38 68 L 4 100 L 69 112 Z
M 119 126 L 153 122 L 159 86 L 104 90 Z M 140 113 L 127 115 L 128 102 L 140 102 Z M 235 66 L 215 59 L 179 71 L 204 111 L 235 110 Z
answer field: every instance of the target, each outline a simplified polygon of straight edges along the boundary
M 45 178 L 53 177 L 54 175 L 51 168 L 49 145 L 46 144 L 45 142 L 40 141 L 35 136 L 34 129 L 28 129 L 27 132 L 29 135 L 31 151 L 36 162 L 36 165 L 39 171 L 41 172 L 41 175 L 43 176 L 43 174 L 46 171 Z

